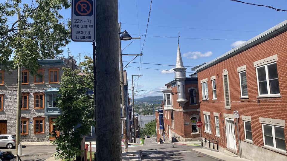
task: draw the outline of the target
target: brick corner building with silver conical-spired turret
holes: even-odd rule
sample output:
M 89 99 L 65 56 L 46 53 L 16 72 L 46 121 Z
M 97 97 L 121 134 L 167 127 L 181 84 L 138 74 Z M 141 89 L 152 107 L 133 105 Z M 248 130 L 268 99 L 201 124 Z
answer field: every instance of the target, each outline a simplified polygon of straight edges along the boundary
M 199 140 L 196 122 L 201 120 L 199 108 L 199 89 L 196 77 L 186 78 L 178 44 L 176 67 L 173 69 L 175 79 L 162 91 L 164 143 Z M 160 117 L 160 114 L 159 114 Z M 159 141 L 158 141 L 159 142 Z

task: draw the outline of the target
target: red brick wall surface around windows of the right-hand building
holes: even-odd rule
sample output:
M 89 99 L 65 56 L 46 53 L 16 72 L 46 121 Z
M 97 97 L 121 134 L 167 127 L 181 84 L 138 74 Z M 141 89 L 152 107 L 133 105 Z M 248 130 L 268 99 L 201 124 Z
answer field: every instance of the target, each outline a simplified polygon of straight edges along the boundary
M 263 58 L 270 57 L 272 55 L 278 55 L 277 61 L 277 71 L 279 78 L 280 94 L 282 97 L 277 98 L 257 98 L 257 79 L 256 79 L 256 69 L 253 62 L 261 60 Z M 237 67 L 246 65 L 246 78 L 247 78 L 247 88 L 249 99 L 239 99 L 240 95 L 240 83 L 239 83 L 239 73 L 237 72 Z M 231 109 L 225 109 L 224 103 L 224 92 L 223 92 L 223 81 L 222 72 L 223 69 L 227 69 L 229 78 L 229 88 L 230 88 L 230 105 Z M 273 118 L 287 120 L 287 32 L 280 33 L 276 37 L 269 39 L 261 44 L 258 44 L 250 49 L 235 55 L 228 60 L 222 61 L 214 66 L 209 67 L 201 72 L 198 72 L 199 86 L 201 87 L 200 80 L 207 78 L 209 100 L 202 100 L 201 88 L 199 88 L 199 98 L 201 117 L 204 120 L 202 114 L 203 111 L 210 112 L 211 120 L 211 132 L 212 134 L 203 133 L 203 137 L 218 139 L 219 145 L 226 147 L 226 134 L 224 131 L 225 120 L 223 113 L 233 114 L 234 110 L 239 111 L 239 115 L 251 116 L 251 130 L 252 139 L 254 145 L 262 146 L 263 136 L 262 136 L 262 124 L 259 123 L 259 117 Z M 216 90 L 217 90 L 217 100 L 212 100 L 212 84 L 210 77 L 216 75 Z M 218 76 L 217 76 L 218 75 Z M 215 120 L 213 112 L 221 113 L 219 115 L 219 127 L 220 127 L 220 138 L 215 137 Z M 239 118 L 239 128 L 240 128 L 240 138 L 245 139 L 244 126 L 241 117 Z M 204 131 L 204 126 L 202 127 Z M 235 126 L 236 133 L 236 126 Z M 287 141 L 287 129 L 284 128 L 285 142 Z M 236 134 L 237 143 L 237 134 Z M 286 143 L 287 144 L 287 143 Z M 237 150 L 238 150 L 237 143 Z

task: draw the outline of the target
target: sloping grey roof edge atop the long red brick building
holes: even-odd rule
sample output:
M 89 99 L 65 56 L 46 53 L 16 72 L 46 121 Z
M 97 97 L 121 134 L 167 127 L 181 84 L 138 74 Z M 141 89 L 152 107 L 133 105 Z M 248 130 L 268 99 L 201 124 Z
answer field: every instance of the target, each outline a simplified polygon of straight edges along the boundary
M 280 24 L 277 24 L 274 27 L 271 27 L 270 29 L 266 30 L 265 32 L 262 32 L 261 34 L 255 36 L 254 38 L 251 38 L 250 40 L 246 41 L 245 43 L 239 45 L 238 47 L 229 50 L 228 52 L 224 53 L 223 55 L 213 59 L 212 61 L 204 64 L 203 66 L 200 66 L 199 68 L 195 69 L 196 72 L 203 71 L 204 69 L 207 69 L 215 64 L 218 64 L 230 57 L 233 57 L 240 52 L 249 49 L 250 47 L 253 47 L 254 45 L 257 45 L 259 43 L 262 43 L 264 41 L 267 41 L 269 38 L 271 38 L 274 35 L 277 35 L 279 32 L 282 32 L 287 29 L 287 20 L 281 22 Z

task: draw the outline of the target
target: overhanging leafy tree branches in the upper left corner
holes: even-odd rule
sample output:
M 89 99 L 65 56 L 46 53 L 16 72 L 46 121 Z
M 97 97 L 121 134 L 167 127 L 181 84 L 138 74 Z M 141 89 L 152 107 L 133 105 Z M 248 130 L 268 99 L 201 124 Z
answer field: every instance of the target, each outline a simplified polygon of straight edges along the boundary
M 59 10 L 70 0 L 6 0 L 0 3 L 0 64 L 28 68 L 35 74 L 38 59 L 54 58 L 70 41 L 70 29 L 59 22 Z M 20 19 L 15 20 L 18 13 Z M 14 20 L 11 22 L 11 20 Z M 68 22 L 70 23 L 70 22 Z M 66 25 L 66 26 L 65 26 Z M 13 61 L 8 61 L 12 57 Z

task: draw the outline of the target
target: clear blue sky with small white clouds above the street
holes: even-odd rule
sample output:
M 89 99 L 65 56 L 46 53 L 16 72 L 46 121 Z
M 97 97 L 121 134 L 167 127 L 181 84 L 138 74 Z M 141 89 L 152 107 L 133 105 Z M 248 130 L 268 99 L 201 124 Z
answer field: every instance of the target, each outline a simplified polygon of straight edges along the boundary
M 287 10 L 286 0 L 242 1 Z M 121 28 L 133 34 L 133 37 L 144 35 L 150 0 L 119 0 L 118 5 Z M 62 14 L 64 19 L 69 18 L 71 17 L 71 10 L 63 10 Z M 133 62 L 175 65 L 177 37 L 178 32 L 180 32 L 179 45 L 184 66 L 196 66 L 224 54 L 232 47 L 236 47 L 236 44 L 249 40 L 286 19 L 287 12 L 278 12 L 267 7 L 242 4 L 230 0 L 153 0 L 147 36 L 142 51 L 143 56 L 138 56 Z M 122 41 L 122 49 L 132 41 Z M 139 54 L 143 43 L 144 36 L 141 36 L 141 40 L 133 41 L 123 50 L 123 54 Z M 92 45 L 88 42 L 71 42 L 67 48 L 74 58 L 77 57 L 78 53 L 82 53 L 82 58 L 85 54 L 92 56 Z M 64 56 L 66 57 L 68 55 L 67 50 L 64 48 Z M 133 58 L 134 56 L 123 56 L 123 61 L 131 61 Z M 126 64 L 127 62 L 123 63 L 124 66 Z M 161 92 L 149 92 L 149 90 L 161 91 L 166 83 L 174 79 L 173 72 L 163 74 L 166 71 L 152 70 L 170 70 L 173 66 L 141 64 L 141 69 L 138 68 L 140 64 L 137 63 L 130 63 L 129 66 L 133 66 L 125 68 L 129 78 L 129 89 L 131 89 L 132 84 L 131 75 L 143 74 L 134 81 L 135 90 L 138 91 L 135 98 L 162 95 Z M 188 72 L 192 72 L 191 67 L 187 67 L 186 72 L 188 77 L 191 74 Z M 135 79 L 136 77 L 134 77 Z

